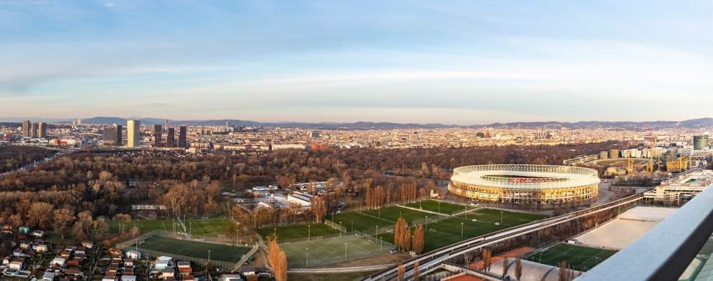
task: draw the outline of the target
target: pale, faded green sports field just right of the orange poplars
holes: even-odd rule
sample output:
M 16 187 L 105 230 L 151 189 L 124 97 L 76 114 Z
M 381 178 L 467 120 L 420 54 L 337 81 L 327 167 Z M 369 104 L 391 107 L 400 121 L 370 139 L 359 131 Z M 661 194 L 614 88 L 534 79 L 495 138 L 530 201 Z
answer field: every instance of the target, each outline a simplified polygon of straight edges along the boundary
M 345 244 L 346 243 L 346 244 Z M 287 255 L 289 267 L 315 267 L 345 260 L 356 260 L 389 251 L 391 245 L 374 243 L 356 235 L 279 245 Z M 346 247 L 346 250 L 345 250 Z M 309 250 L 307 250 L 309 249 Z M 344 254 L 346 253 L 346 258 Z M 307 263 L 309 261 L 309 263 Z

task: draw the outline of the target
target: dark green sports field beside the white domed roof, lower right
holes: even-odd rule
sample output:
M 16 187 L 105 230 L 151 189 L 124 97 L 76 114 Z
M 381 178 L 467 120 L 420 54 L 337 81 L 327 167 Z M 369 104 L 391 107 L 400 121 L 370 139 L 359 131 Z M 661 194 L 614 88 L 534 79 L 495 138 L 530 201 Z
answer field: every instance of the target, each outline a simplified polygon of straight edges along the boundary
M 615 253 L 617 253 L 615 250 L 559 244 L 553 248 L 531 255 L 528 260 L 555 267 L 564 261 L 574 270 L 587 271 Z

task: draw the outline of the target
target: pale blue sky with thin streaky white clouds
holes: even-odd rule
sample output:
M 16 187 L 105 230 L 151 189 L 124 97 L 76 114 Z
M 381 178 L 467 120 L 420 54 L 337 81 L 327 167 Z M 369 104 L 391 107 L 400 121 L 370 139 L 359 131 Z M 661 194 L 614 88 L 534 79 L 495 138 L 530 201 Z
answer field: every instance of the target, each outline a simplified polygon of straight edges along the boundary
M 0 0 L 0 117 L 711 117 L 713 1 Z

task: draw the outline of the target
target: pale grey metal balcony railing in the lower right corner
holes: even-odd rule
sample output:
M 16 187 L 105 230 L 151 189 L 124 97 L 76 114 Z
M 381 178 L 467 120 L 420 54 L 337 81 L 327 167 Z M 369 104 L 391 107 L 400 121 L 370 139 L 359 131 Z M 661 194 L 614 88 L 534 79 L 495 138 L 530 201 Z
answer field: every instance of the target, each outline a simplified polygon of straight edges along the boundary
M 705 272 L 700 269 L 706 267 L 710 256 L 710 249 L 702 248 L 713 233 L 712 187 L 577 280 L 702 280 L 697 275 Z M 687 276 L 682 277 L 684 271 Z

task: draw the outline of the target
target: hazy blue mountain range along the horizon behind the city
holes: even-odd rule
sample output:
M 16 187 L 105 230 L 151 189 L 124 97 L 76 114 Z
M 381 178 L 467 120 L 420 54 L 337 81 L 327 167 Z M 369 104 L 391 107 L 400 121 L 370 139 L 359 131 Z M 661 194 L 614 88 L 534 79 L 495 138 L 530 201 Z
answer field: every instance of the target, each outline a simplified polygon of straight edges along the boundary
M 42 119 L 42 118 L 0 118 L 0 122 L 21 122 L 21 120 L 31 120 L 32 122 L 71 122 L 67 119 Z M 83 119 L 83 124 L 125 124 L 128 118 L 123 117 L 91 117 Z M 165 119 L 159 118 L 136 118 L 142 124 L 164 124 Z M 473 125 L 454 125 L 440 123 L 397 123 L 397 122 L 258 122 L 252 120 L 168 120 L 170 125 L 192 125 L 192 126 L 220 126 L 228 122 L 236 126 L 264 126 L 264 127 L 299 127 L 305 129 L 439 129 L 439 128 L 468 128 L 468 127 L 508 127 L 508 128 L 543 128 L 543 129 L 559 129 L 561 127 L 568 128 L 591 128 L 591 127 L 608 127 L 620 129 L 637 129 L 643 127 L 652 128 L 709 128 L 713 127 L 713 118 L 704 117 L 692 120 L 682 121 L 579 121 L 579 122 L 496 122 L 491 124 L 473 124 Z

